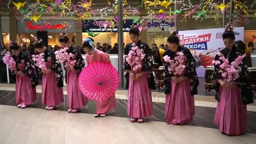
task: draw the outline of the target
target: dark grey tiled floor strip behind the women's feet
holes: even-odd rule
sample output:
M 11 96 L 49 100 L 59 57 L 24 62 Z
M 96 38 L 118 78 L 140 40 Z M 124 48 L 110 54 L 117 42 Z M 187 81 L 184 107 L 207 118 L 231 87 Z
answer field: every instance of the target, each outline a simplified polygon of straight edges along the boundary
M 16 99 L 15 99 L 15 91 L 0 91 L 0 104 L 1 105 L 8 105 L 8 106 L 16 106 Z M 44 106 L 41 103 L 41 94 L 38 93 L 37 101 L 30 107 L 43 109 Z M 114 117 L 127 117 L 127 100 L 126 99 L 117 99 L 117 107 L 112 111 L 109 112 L 109 116 Z M 158 121 L 158 122 L 165 122 L 165 103 L 158 103 L 153 102 L 153 111 L 154 115 L 149 117 L 147 121 Z M 24 109 L 25 110 L 25 109 Z M 59 105 L 58 111 L 67 111 L 67 96 L 65 96 L 64 103 Z M 87 114 L 95 114 L 96 113 L 96 102 L 89 101 L 88 104 L 81 109 L 82 113 Z M 192 126 L 199 126 L 205 128 L 217 128 L 217 126 L 213 123 L 213 118 L 215 114 L 215 108 L 212 107 L 199 107 L 195 106 L 195 115 L 193 120 L 187 125 Z M 70 114 L 72 115 L 72 114 Z M 248 133 L 256 133 L 256 112 L 247 113 L 248 117 Z

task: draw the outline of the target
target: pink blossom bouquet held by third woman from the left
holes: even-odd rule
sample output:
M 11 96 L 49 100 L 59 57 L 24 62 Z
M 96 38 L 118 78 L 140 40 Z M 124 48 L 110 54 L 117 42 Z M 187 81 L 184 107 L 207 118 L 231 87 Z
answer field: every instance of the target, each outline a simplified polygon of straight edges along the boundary
M 71 60 L 70 58 L 75 59 L 75 55 L 73 55 L 72 53 L 67 53 L 67 49 L 68 48 L 61 48 L 61 50 L 56 51 L 55 57 L 59 62 L 64 63 L 64 67 L 73 68 L 76 64 L 76 60 Z

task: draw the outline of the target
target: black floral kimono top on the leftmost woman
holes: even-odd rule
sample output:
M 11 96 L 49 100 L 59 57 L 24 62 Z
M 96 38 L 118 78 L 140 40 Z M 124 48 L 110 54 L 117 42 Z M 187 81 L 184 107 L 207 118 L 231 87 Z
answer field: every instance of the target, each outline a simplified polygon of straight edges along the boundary
M 21 72 L 30 77 L 32 88 L 35 88 L 38 85 L 38 78 L 36 75 L 35 67 L 32 64 L 32 60 L 26 53 L 22 51 L 20 51 L 19 56 L 12 55 L 12 57 L 16 62 L 17 71 L 21 71 L 21 69 L 18 69 L 18 64 L 25 64 L 25 67 Z

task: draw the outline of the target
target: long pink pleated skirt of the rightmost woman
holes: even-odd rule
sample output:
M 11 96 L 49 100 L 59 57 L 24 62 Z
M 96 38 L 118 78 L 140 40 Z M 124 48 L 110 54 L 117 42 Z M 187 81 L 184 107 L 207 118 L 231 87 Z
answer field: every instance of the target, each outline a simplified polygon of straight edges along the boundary
M 242 103 L 241 91 L 237 88 L 219 88 L 220 101 L 216 107 L 214 123 L 221 133 L 244 134 L 247 127 L 246 105 Z

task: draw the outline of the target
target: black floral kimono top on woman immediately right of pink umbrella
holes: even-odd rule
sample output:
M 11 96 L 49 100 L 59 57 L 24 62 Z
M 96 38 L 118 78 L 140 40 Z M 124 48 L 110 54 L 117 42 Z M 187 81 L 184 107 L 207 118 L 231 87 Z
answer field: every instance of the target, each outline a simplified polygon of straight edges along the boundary
M 153 61 L 152 61 L 152 56 L 151 56 L 151 52 L 149 49 L 149 46 L 147 43 L 142 42 L 141 40 L 139 40 L 139 42 L 136 44 L 136 46 L 139 47 L 139 49 L 143 49 L 144 50 L 144 54 L 146 55 L 144 58 L 144 65 L 142 66 L 142 70 L 141 72 L 149 72 L 151 73 L 150 77 L 148 78 L 148 85 L 150 89 L 155 90 L 156 86 L 155 86 L 155 80 L 154 80 L 154 76 L 152 74 L 152 66 L 153 66 Z M 131 51 L 132 48 L 132 43 L 129 43 L 128 45 L 126 45 L 125 47 L 125 59 L 128 55 L 128 53 Z M 128 64 L 128 62 L 124 61 L 124 71 L 128 71 L 131 70 L 131 66 L 130 64 Z M 129 73 L 127 72 L 125 74 L 125 78 L 126 78 L 126 86 L 125 88 L 128 89 L 129 86 Z

